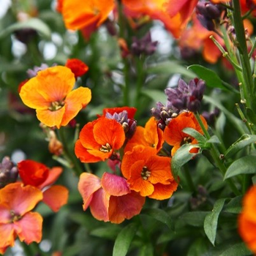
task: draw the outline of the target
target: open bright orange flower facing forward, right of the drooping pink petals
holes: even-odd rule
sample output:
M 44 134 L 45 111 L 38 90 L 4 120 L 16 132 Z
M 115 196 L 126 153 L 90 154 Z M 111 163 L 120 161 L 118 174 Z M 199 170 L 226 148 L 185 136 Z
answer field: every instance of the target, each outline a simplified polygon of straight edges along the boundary
M 129 188 L 143 197 L 169 198 L 178 184 L 170 170 L 170 157 L 159 157 L 155 148 L 135 146 L 121 162 L 121 172 Z

